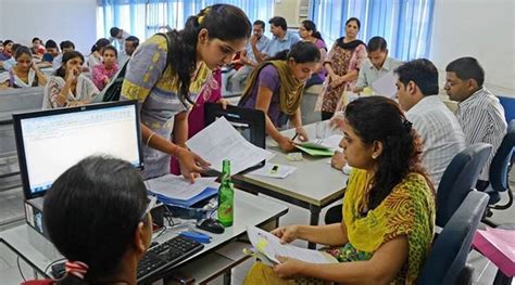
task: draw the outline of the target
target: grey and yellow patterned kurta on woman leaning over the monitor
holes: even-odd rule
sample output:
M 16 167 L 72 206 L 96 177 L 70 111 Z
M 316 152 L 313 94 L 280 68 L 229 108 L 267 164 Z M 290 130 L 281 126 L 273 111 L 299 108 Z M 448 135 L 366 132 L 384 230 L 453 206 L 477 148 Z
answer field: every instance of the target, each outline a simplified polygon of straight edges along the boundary
M 187 112 L 177 91 L 178 76 L 166 62 L 167 43 L 163 36 L 154 35 L 141 46 L 130 59 L 121 100 L 138 100 L 141 122 L 163 138 L 171 138 L 174 116 Z M 164 72 L 163 72 L 164 70 Z M 201 63 L 191 80 L 190 98 L 196 102 L 211 70 Z M 169 156 L 143 146 L 145 179 L 169 173 Z

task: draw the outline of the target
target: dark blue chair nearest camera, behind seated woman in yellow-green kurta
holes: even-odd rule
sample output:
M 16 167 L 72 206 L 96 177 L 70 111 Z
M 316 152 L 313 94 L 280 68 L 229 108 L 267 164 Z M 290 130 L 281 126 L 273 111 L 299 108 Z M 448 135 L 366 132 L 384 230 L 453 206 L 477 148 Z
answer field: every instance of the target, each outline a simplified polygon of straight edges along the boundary
M 473 272 L 465 263 L 487 204 L 487 194 L 475 190 L 468 192 L 434 242 L 418 284 L 464 284 L 465 280 L 470 282 Z

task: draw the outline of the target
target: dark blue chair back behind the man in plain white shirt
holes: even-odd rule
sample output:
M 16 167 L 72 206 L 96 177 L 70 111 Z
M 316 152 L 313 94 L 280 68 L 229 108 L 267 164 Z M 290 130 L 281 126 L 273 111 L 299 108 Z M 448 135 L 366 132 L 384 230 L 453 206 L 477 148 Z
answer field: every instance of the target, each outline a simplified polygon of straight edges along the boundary
M 437 225 L 443 228 L 467 194 L 475 189 L 492 146 L 477 143 L 456 154 L 443 172 L 437 192 Z

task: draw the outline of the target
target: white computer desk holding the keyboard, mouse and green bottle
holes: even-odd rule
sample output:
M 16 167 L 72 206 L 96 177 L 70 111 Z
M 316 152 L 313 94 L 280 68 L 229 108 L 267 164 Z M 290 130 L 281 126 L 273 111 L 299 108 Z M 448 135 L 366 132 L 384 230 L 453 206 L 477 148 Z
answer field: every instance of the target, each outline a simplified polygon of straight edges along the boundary
M 187 262 L 194 262 L 196 259 L 201 258 L 246 233 L 246 226 L 249 224 L 261 225 L 273 220 L 278 220 L 280 216 L 288 212 L 288 207 L 275 203 L 263 197 L 259 197 L 242 191 L 235 192 L 235 222 L 233 226 L 225 229 L 223 234 L 210 234 L 213 239 L 209 244 L 204 244 L 204 248 L 196 255 L 185 259 L 176 264 L 180 265 Z M 184 230 L 184 229 L 183 229 Z M 162 243 L 177 234 L 171 229 L 154 241 Z M 39 233 L 33 230 L 27 224 L 18 225 L 16 228 L 7 230 L 0 233 L 0 239 L 17 256 L 23 258 L 35 272 L 48 276 L 47 267 L 62 256 L 56 251 L 50 242 L 43 238 Z M 38 241 L 34 241 L 38 239 Z M 163 277 L 165 272 L 160 272 L 158 278 Z M 1 277 L 0 277 L 1 280 Z

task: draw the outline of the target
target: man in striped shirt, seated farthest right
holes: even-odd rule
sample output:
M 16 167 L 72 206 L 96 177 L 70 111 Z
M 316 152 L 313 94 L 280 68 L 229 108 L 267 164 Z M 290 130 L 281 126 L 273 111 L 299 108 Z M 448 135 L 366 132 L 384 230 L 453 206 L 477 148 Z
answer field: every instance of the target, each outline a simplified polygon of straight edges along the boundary
M 445 67 L 444 89 L 452 101 L 459 102 L 456 117 L 465 132 L 467 145 L 489 143 L 493 152 L 482 169 L 478 190 L 488 186 L 490 164 L 506 134 L 504 108 L 499 99 L 487 90 L 485 70 L 474 57 L 461 57 Z

